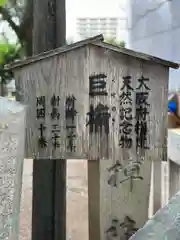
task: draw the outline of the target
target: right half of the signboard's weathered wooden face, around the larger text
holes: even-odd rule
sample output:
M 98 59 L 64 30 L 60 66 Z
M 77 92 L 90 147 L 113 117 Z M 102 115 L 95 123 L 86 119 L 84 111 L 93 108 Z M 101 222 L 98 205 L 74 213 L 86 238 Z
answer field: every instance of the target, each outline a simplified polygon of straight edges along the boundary
M 109 113 L 111 114 L 110 123 L 109 123 L 109 134 L 108 140 L 102 138 L 108 142 L 108 153 L 104 153 L 101 157 L 112 158 L 115 157 L 116 160 L 120 160 L 123 164 L 123 159 L 125 161 L 131 161 L 139 159 L 140 156 L 137 156 L 137 151 L 135 147 L 135 130 L 132 131 L 133 136 L 133 147 L 126 151 L 125 149 L 121 149 L 119 146 L 119 124 L 122 122 L 119 119 L 119 114 L 121 111 L 121 107 L 119 106 L 119 96 L 122 93 L 120 90 L 123 86 L 123 77 L 131 76 L 132 88 L 135 89 L 138 85 L 137 79 L 141 77 L 143 74 L 146 78 L 149 78 L 150 81 L 148 83 L 151 91 L 149 92 L 148 102 L 150 107 L 147 111 L 149 111 L 149 119 L 148 119 L 148 130 L 149 130 L 149 139 L 148 144 L 151 146 L 151 151 L 146 151 L 148 154 L 151 152 L 150 156 L 153 159 L 158 159 L 157 156 L 161 156 L 160 159 L 166 159 L 166 113 L 167 108 L 164 110 L 163 108 L 166 106 L 167 100 L 167 84 L 168 84 L 168 69 L 151 64 L 144 64 L 137 60 L 131 59 L 127 56 L 119 54 L 115 54 L 104 49 L 97 48 L 89 48 L 89 69 L 90 74 L 100 74 L 104 73 L 106 76 L 106 91 L 108 93 L 108 97 L 106 96 L 96 96 L 91 101 L 95 102 L 96 106 L 98 103 L 102 103 L 107 105 L 109 108 Z M 143 67 L 142 67 L 143 66 Z M 153 68 L 153 73 L 151 68 Z M 164 85 L 164 86 L 163 86 Z M 162 87 L 161 87 L 162 86 Z M 155 90 L 154 90 L 155 89 Z M 159 95 L 161 94 L 161 95 Z M 113 97 L 115 95 L 115 97 Z M 132 93 L 132 124 L 135 125 L 135 91 Z M 163 101 L 162 101 L 163 100 Z M 157 111 L 161 109 L 162 111 Z M 115 112 L 113 111 L 115 109 Z M 130 114 L 129 114 L 130 115 Z M 113 124 L 113 118 L 115 119 L 115 123 Z M 104 146 L 104 142 L 97 142 L 97 139 L 100 139 L 98 134 L 94 136 L 90 136 L 90 152 L 91 155 L 89 159 L 96 158 L 98 153 L 95 153 L 93 147 L 96 148 L 97 145 Z M 91 139 L 92 138 L 92 139 Z M 99 150 L 100 151 L 100 150 Z M 94 154 L 95 156 L 92 156 Z M 115 156 L 113 156 L 113 154 Z M 104 156 L 103 156 L 104 155 Z

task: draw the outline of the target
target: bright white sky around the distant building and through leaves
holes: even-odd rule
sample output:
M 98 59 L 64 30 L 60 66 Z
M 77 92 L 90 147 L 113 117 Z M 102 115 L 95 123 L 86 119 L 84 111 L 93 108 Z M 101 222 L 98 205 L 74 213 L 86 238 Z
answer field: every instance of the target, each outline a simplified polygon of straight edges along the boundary
M 113 1 L 113 4 L 112 4 Z M 67 39 L 78 40 L 76 35 L 76 18 L 78 17 L 119 17 L 126 18 L 126 0 L 66 0 L 66 31 Z M 126 40 L 126 21 L 122 21 L 122 31 L 119 40 Z M 16 36 L 7 23 L 0 26 L 0 31 L 6 32 L 11 42 Z

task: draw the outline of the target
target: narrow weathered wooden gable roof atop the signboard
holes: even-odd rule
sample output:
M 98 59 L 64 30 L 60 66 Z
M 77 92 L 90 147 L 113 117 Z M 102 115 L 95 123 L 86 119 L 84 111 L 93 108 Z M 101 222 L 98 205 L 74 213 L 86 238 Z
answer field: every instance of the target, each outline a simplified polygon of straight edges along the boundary
M 16 61 L 10 65 L 7 65 L 6 68 L 7 69 L 21 68 L 25 65 L 35 63 L 37 61 L 40 61 L 40 60 L 43 60 L 46 58 L 50 58 L 50 57 L 53 57 L 53 56 L 56 56 L 56 55 L 59 55 L 59 54 L 62 54 L 62 53 L 65 53 L 65 52 L 68 52 L 71 50 L 75 50 L 77 48 L 81 48 L 86 45 L 95 45 L 95 46 L 102 47 L 102 48 L 105 48 L 105 49 L 108 49 L 108 50 L 111 50 L 111 51 L 114 51 L 114 52 L 117 52 L 120 54 L 125 54 L 128 56 L 131 56 L 131 57 L 134 57 L 137 59 L 161 64 L 165 67 L 170 67 L 170 68 L 175 68 L 175 69 L 179 68 L 179 64 L 177 64 L 177 63 L 167 61 L 167 60 L 164 60 L 161 58 L 157 58 L 157 57 L 154 57 L 154 56 L 151 56 L 148 54 L 136 52 L 131 49 L 124 48 L 124 47 L 117 47 L 117 46 L 105 43 L 105 42 L 103 42 L 103 40 L 104 40 L 103 35 L 100 34 L 95 37 L 85 39 L 83 41 L 79 41 L 79 42 L 76 42 L 76 43 L 73 43 L 70 45 L 65 45 L 63 47 L 53 49 L 51 51 L 47 51 L 47 52 L 43 52 L 38 55 L 34 55 L 32 57 L 26 58 L 25 60 Z

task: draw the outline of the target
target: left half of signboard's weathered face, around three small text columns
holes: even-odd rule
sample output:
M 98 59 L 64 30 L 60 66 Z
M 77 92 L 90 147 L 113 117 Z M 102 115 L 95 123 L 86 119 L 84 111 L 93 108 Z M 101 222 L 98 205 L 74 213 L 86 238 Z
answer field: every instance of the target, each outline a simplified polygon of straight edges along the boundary
M 84 159 L 87 157 L 88 89 L 86 49 L 84 48 L 60 55 L 52 60 L 39 62 L 17 72 L 18 95 L 21 96 L 22 102 L 28 105 L 26 157 L 34 156 L 34 158 L 46 159 Z M 45 96 L 46 116 L 45 119 L 36 119 L 36 98 L 41 96 Z M 58 110 L 57 114 L 60 114 L 59 119 L 56 118 L 57 115 L 55 115 L 55 119 L 51 119 L 53 96 L 60 99 L 59 106 L 55 106 Z M 77 112 L 74 122 L 71 120 L 73 115 L 70 115 L 69 120 L 66 117 L 65 109 L 69 107 L 70 112 L 71 100 L 73 101 L 71 99 L 68 106 L 66 104 L 67 97 L 74 98 L 74 109 Z M 40 124 L 46 127 L 44 134 L 48 144 L 45 148 L 40 148 L 38 145 Z M 59 133 L 54 128 L 55 125 L 60 131 Z M 75 128 L 73 128 L 74 126 Z M 73 136 L 70 138 L 71 131 Z M 55 141 L 52 139 L 53 132 L 59 136 L 56 140 L 60 146 L 57 148 L 53 145 Z M 73 149 L 74 146 L 75 149 Z

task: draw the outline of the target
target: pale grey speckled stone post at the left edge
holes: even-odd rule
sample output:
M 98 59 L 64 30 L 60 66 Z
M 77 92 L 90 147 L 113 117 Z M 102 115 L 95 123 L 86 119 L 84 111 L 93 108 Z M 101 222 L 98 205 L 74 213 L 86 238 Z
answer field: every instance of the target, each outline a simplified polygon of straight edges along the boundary
M 19 239 L 26 109 L 0 97 L 0 239 Z

